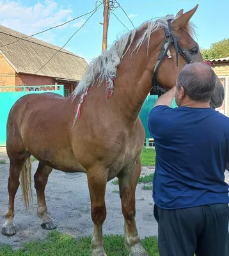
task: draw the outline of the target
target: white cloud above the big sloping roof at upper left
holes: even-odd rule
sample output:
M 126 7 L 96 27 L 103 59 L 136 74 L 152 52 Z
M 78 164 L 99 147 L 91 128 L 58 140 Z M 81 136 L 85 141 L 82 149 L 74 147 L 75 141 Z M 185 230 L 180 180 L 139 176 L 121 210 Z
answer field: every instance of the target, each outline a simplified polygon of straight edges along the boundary
M 22 1 L 17 0 L 0 0 L 0 24 L 26 35 L 32 35 L 66 22 L 72 19 L 72 13 L 70 8 L 61 8 L 54 0 L 38 2 L 33 6 L 26 6 Z M 59 29 L 66 28 L 66 26 Z M 53 42 L 54 33 L 54 31 L 47 35 L 44 33 L 39 35 L 39 38 Z

